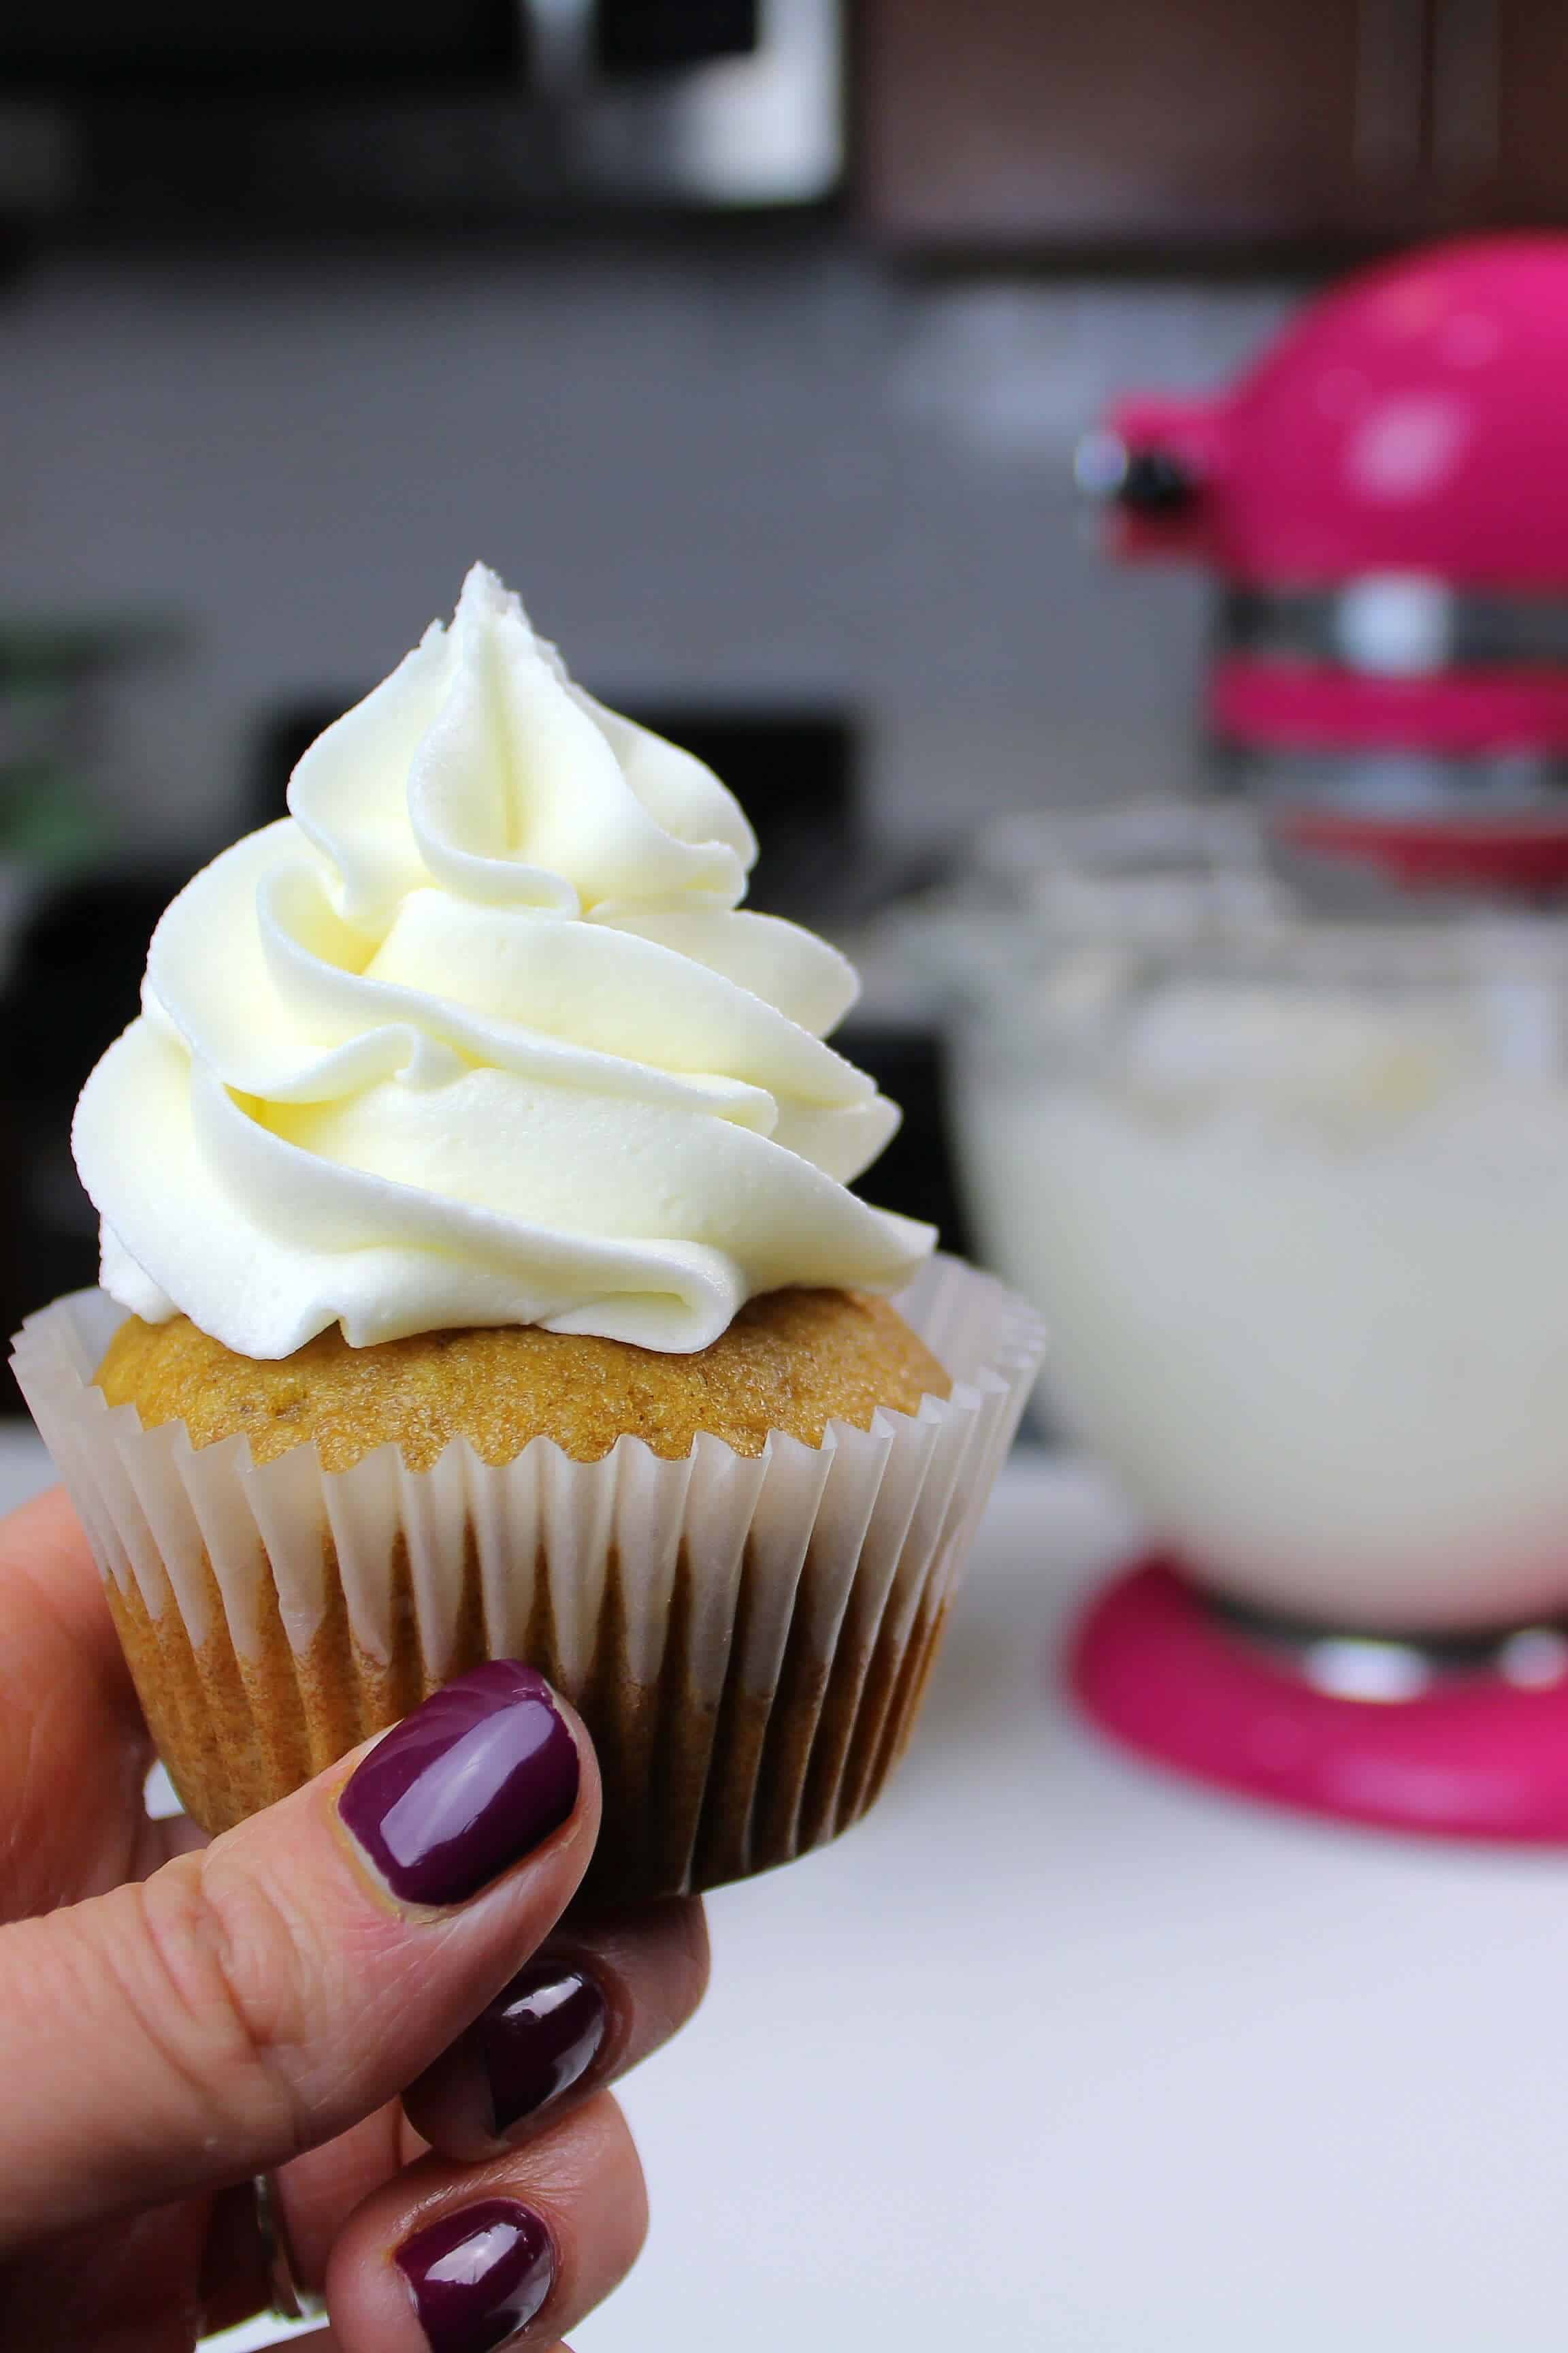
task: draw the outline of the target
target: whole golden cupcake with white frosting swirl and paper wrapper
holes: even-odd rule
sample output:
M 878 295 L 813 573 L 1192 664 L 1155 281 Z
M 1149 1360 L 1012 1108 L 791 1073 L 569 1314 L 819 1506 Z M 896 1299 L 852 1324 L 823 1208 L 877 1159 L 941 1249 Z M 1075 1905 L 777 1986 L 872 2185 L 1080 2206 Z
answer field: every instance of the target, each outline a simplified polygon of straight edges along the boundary
M 16 1339 L 209 1831 L 487 1657 L 604 1769 L 592 1892 L 832 1838 L 900 1753 L 1039 1353 L 849 1191 L 856 993 L 719 779 L 477 567 L 207 866 L 73 1144 L 101 1289 Z

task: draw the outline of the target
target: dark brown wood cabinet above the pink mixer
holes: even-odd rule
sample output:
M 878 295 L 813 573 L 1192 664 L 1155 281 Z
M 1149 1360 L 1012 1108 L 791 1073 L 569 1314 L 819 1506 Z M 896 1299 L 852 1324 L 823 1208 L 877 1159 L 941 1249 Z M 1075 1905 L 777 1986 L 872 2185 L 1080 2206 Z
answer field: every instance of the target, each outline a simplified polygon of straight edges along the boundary
M 1568 0 L 863 0 L 860 188 L 919 249 L 1568 224 Z

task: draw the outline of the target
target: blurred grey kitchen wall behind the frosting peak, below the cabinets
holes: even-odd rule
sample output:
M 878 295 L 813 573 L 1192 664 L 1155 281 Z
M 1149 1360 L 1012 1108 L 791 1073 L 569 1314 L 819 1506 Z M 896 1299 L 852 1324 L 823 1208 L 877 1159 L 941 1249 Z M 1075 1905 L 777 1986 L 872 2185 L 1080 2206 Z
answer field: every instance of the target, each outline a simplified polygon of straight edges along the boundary
M 825 231 L 45 261 L 0 301 L 0 605 L 190 619 L 125 699 L 158 840 L 221 833 L 263 708 L 381 675 L 473 555 L 602 689 L 863 706 L 903 838 L 1171 786 L 1204 598 L 1093 558 L 1070 452 L 1286 306 L 910 282 Z

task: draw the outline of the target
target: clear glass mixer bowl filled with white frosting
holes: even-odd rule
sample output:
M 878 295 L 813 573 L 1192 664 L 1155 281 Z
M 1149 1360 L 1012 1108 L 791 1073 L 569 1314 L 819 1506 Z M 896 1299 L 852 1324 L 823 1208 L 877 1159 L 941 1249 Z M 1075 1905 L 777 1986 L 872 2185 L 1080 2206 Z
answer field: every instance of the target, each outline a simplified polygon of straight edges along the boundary
M 954 1056 L 1051 1398 L 1204 1584 L 1401 1633 L 1568 1605 L 1561 1007 L 1556 955 L 1171 979 L 1032 1075 Z

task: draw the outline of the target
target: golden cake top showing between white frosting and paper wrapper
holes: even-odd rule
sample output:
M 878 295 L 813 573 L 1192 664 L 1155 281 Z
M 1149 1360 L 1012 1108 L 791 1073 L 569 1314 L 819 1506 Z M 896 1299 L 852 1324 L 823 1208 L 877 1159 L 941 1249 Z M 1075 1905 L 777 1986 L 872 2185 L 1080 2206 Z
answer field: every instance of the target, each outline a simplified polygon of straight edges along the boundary
M 99 1365 L 110 1405 L 146 1428 L 183 1421 L 195 1447 L 242 1431 L 259 1464 L 315 1442 L 327 1471 L 348 1471 L 395 1440 L 428 1471 L 451 1438 L 505 1464 L 531 1438 L 574 1461 L 599 1461 L 616 1438 L 679 1459 L 698 1431 L 736 1454 L 762 1454 L 769 1431 L 816 1447 L 830 1421 L 867 1428 L 879 1405 L 912 1414 L 950 1381 L 886 1299 L 863 1292 L 764 1292 L 696 1355 L 618 1339 L 498 1325 L 418 1332 L 350 1348 L 339 1325 L 294 1355 L 235 1355 L 188 1315 L 127 1318 Z

